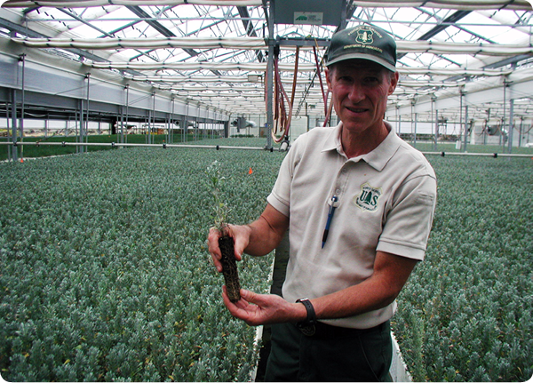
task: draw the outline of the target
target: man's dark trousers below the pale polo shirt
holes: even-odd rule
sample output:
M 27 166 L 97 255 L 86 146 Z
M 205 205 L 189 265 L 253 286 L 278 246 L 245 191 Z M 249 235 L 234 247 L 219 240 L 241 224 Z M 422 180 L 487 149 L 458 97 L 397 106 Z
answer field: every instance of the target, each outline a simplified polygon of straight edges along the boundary
M 392 383 L 390 323 L 368 330 L 318 323 L 313 336 L 292 323 L 272 326 L 265 383 Z

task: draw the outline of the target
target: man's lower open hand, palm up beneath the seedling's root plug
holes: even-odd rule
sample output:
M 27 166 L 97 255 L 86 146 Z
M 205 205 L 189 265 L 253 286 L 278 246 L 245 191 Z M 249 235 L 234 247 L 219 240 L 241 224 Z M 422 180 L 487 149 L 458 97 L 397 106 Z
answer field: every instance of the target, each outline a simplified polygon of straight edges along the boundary
M 259 324 L 299 322 L 307 317 L 306 307 L 301 303 L 289 303 L 275 294 L 256 294 L 241 290 L 241 300 L 232 303 L 223 287 L 222 299 L 235 318 L 242 319 L 251 326 Z

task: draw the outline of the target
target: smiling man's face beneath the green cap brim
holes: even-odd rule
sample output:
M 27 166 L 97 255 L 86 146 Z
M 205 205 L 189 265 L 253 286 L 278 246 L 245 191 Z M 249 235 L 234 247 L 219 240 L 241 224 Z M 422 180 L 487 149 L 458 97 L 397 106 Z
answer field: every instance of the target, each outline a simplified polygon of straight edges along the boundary
M 370 60 L 345 60 L 326 70 L 326 81 L 343 129 L 350 133 L 378 132 L 383 126 L 386 99 L 398 83 L 397 72 Z

